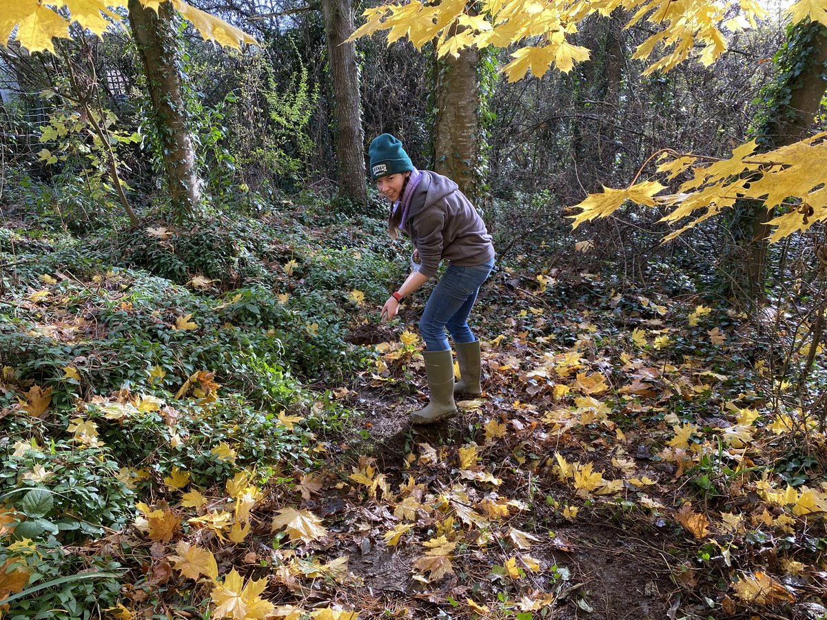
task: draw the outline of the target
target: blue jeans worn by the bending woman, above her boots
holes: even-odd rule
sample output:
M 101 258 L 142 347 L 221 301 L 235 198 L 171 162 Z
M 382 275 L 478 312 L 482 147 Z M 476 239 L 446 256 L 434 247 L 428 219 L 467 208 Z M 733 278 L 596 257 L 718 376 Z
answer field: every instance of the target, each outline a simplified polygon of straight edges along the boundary
M 480 286 L 493 268 L 494 259 L 472 267 L 448 265 L 419 319 L 419 334 L 425 341 L 427 351 L 448 351 L 451 348 L 445 337 L 446 327 L 454 342 L 476 341 L 468 327 L 468 315 Z

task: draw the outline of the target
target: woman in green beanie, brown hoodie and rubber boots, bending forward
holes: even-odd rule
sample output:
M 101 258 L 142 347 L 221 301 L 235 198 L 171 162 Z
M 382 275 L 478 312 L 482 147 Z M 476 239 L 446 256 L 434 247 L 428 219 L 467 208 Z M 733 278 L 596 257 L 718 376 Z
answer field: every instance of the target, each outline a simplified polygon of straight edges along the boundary
M 375 138 L 368 154 L 376 188 L 392 204 L 388 222 L 391 238 L 404 231 L 414 244 L 411 274 L 385 302 L 382 314 L 389 319 L 396 316 L 403 299 L 437 274 L 440 260 L 450 263 L 419 320 L 431 401 L 410 418 L 414 424 L 429 424 L 457 413 L 455 392 L 482 393 L 480 341 L 468 327 L 468 314 L 480 285 L 494 267 L 494 246 L 474 205 L 457 184 L 442 174 L 414 168 L 394 136 L 385 133 Z M 457 346 L 457 385 L 446 327 Z

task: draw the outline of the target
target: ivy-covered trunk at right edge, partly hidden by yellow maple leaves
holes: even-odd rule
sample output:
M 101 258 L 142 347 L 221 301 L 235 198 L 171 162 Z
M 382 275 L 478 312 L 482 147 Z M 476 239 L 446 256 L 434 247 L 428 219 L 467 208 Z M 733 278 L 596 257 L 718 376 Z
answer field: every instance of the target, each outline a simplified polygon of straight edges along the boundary
M 827 89 L 827 28 L 818 22 L 799 23 L 787 31 L 775 58 L 777 79 L 764 93 L 767 106 L 753 123 L 762 151 L 805 138 Z M 739 256 L 734 260 L 734 296 L 762 297 L 767 274 L 767 222 L 772 212 L 762 204 L 739 201 L 732 226 Z

